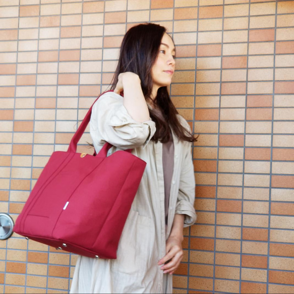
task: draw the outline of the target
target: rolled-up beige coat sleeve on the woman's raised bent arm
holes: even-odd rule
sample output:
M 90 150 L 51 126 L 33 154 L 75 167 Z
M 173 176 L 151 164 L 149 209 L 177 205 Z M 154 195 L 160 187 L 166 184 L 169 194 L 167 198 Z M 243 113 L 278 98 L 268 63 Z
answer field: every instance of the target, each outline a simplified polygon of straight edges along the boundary
M 94 145 L 108 142 L 121 149 L 133 149 L 147 145 L 155 133 L 155 123 L 134 121 L 123 104 L 123 97 L 107 92 L 93 105 L 90 133 Z

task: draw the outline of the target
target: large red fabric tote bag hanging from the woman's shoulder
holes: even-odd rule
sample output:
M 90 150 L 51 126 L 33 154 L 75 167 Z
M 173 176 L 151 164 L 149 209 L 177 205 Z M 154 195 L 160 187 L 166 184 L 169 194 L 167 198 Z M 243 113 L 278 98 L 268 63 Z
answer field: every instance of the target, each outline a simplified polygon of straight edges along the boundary
M 92 106 L 68 151 L 52 153 L 14 231 L 79 255 L 115 259 L 146 162 L 130 150 L 106 156 L 109 143 L 97 155 L 76 152 Z

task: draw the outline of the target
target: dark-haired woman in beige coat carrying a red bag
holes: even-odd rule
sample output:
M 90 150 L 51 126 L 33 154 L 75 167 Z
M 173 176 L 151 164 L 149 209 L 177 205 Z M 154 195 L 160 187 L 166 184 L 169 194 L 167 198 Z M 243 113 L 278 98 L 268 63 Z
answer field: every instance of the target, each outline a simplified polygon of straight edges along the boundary
M 79 257 L 72 293 L 171 293 L 182 258 L 183 227 L 196 220 L 188 123 L 169 98 L 173 41 L 166 29 L 140 24 L 124 37 L 112 90 L 92 109 L 96 152 L 130 149 L 147 162 L 126 221 L 117 259 Z M 121 96 L 121 94 L 123 96 Z

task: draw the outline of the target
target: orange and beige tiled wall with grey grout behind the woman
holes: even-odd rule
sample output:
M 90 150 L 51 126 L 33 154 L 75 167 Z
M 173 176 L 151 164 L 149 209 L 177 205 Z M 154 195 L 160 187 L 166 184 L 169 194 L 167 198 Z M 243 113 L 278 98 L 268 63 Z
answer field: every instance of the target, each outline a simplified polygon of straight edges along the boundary
M 127 29 L 149 21 L 174 39 L 171 99 L 199 134 L 198 221 L 174 293 L 293 293 L 294 1 L 0 0 L 0 212 L 17 218 L 110 83 Z M 67 292 L 75 261 L 14 234 L 0 291 Z

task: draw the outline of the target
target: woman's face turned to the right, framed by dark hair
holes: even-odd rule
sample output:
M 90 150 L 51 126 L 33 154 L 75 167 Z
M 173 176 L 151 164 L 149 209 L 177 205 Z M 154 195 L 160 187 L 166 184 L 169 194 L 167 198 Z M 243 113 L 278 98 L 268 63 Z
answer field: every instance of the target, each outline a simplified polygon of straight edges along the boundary
M 175 48 L 172 39 L 164 33 L 157 59 L 151 70 L 153 90 L 156 92 L 158 88 L 168 86 L 171 83 L 175 64 L 174 54 Z

